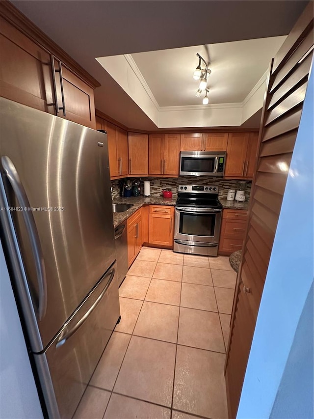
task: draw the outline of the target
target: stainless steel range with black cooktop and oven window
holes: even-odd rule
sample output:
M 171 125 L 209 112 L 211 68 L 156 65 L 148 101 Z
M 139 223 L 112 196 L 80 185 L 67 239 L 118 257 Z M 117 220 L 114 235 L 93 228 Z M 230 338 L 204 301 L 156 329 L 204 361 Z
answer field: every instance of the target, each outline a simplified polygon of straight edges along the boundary
M 214 185 L 179 185 L 173 250 L 217 256 L 222 205 Z

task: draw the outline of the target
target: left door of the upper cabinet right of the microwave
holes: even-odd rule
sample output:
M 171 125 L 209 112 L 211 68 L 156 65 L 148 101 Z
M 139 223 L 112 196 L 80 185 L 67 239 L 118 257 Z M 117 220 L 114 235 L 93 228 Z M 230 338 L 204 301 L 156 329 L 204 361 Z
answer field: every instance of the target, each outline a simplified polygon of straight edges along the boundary
M 225 177 L 241 178 L 244 174 L 248 133 L 230 133 L 228 136 Z

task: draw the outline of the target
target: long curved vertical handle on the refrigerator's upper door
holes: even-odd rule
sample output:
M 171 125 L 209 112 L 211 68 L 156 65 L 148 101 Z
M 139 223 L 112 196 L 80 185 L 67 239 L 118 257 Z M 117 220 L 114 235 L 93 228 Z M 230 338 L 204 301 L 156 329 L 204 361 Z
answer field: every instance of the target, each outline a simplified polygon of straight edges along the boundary
M 39 290 L 39 305 L 38 305 L 38 316 L 41 320 L 47 309 L 47 281 L 46 281 L 46 269 L 43 251 L 40 245 L 39 235 L 36 228 L 35 220 L 32 211 L 29 209 L 29 201 L 25 192 L 25 189 L 21 183 L 20 176 L 12 163 L 11 159 L 7 156 L 1 157 L 2 168 L 8 178 L 11 187 L 19 205 L 22 207 L 23 219 L 26 224 L 26 230 L 29 237 L 31 251 L 34 257 L 38 290 Z

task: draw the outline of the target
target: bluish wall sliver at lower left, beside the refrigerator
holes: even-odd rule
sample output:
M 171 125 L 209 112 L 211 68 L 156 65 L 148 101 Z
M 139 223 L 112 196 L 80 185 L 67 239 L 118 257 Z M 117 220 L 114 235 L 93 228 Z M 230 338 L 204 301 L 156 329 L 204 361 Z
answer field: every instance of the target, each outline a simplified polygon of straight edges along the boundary
M 0 418 L 43 418 L 1 243 Z

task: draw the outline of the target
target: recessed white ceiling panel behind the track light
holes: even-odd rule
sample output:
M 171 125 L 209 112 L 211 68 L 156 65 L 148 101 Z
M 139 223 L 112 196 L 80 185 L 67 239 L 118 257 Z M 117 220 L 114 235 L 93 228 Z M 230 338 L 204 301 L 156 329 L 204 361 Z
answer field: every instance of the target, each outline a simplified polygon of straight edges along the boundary
M 200 105 L 193 79 L 199 53 L 209 64 L 209 103 L 243 102 L 286 36 L 132 54 L 159 107 Z M 204 64 L 202 63 L 202 68 Z

